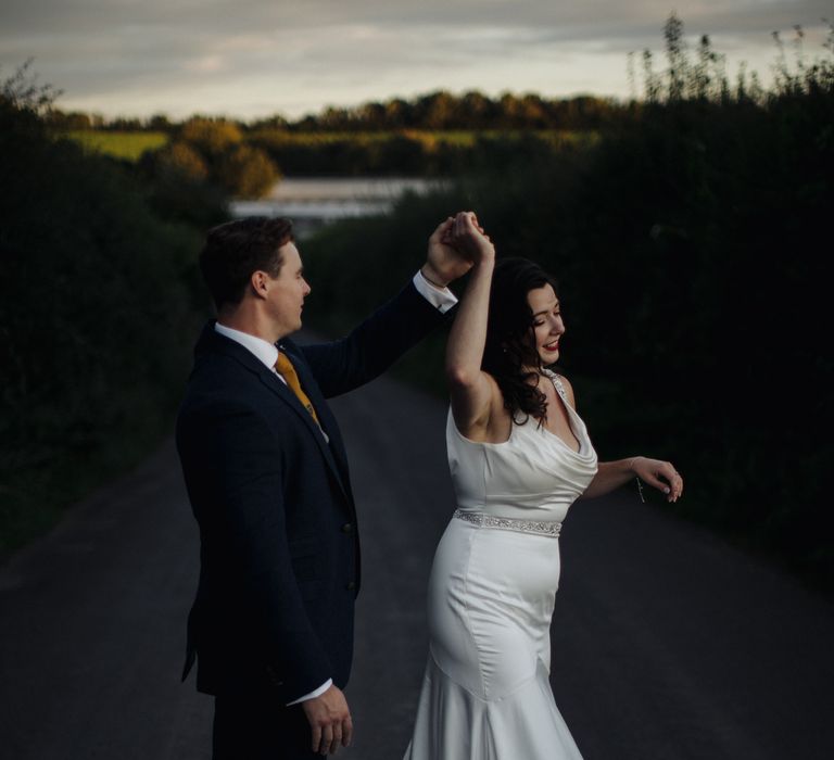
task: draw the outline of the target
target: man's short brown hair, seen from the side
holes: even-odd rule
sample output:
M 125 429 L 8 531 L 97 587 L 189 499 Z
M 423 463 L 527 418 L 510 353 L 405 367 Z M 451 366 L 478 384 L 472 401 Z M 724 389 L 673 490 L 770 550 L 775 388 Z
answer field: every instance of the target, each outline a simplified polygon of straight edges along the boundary
M 283 264 L 278 249 L 293 239 L 292 221 L 285 217 L 250 216 L 210 229 L 200 271 L 217 309 L 241 302 L 253 271 L 278 277 Z

